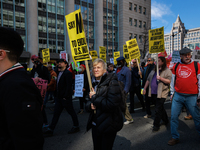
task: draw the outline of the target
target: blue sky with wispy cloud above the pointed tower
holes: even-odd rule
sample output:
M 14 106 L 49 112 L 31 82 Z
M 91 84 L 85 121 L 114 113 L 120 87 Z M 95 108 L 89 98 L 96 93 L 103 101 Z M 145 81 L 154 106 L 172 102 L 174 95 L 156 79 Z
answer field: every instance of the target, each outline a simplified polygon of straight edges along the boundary
M 164 26 L 170 33 L 178 15 L 186 29 L 200 27 L 200 0 L 151 0 L 152 29 Z

